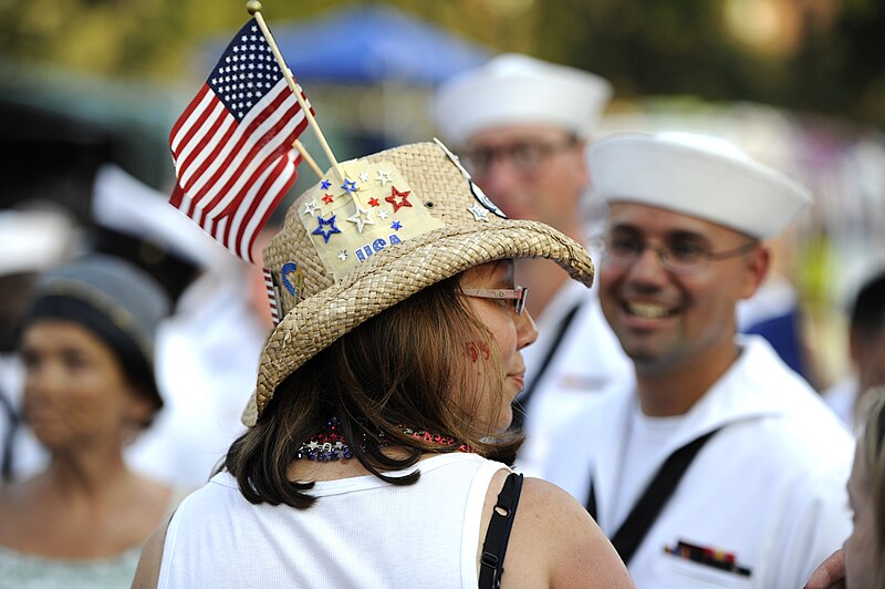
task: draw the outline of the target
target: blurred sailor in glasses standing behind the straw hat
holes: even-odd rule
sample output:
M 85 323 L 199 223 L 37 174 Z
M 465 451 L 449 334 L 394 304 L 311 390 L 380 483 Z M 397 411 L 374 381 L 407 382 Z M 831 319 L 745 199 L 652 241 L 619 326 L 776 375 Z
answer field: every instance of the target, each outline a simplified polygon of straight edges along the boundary
M 546 223 L 586 242 L 582 196 L 591 178 L 585 147 L 611 96 L 592 73 L 506 54 L 444 83 L 435 118 L 473 180 L 508 216 Z M 517 280 L 539 338 L 523 355 L 525 390 L 513 426 L 528 440 L 519 467 L 539 474 L 564 417 L 632 372 L 593 292 L 543 260 L 523 260 Z M 596 362 L 586 361 L 594 350 Z M 523 413 L 524 412 L 524 413 Z

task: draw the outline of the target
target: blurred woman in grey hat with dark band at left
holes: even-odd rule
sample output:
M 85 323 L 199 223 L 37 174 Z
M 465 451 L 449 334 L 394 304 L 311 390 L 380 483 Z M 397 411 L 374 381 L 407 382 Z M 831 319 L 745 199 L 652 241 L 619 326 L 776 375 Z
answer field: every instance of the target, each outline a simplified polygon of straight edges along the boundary
M 166 294 L 140 269 L 90 256 L 44 275 L 23 318 L 24 422 L 49 451 L 0 488 L 0 585 L 128 587 L 173 488 L 127 468 L 124 446 L 163 406 L 154 380 Z

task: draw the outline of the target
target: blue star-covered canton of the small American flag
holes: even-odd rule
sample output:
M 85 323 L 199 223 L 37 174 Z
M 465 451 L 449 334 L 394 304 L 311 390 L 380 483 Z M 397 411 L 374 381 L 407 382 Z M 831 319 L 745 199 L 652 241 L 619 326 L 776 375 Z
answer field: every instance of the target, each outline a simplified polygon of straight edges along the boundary
M 208 82 L 225 107 L 240 121 L 282 78 L 270 45 L 251 19 L 221 54 Z

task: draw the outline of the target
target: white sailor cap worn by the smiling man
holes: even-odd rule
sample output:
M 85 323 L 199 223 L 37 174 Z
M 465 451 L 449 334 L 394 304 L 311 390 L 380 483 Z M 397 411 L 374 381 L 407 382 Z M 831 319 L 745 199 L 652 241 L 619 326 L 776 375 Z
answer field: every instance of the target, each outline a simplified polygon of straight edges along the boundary
M 593 193 L 675 210 L 767 239 L 812 203 L 811 193 L 733 144 L 709 135 L 617 133 L 590 148 Z

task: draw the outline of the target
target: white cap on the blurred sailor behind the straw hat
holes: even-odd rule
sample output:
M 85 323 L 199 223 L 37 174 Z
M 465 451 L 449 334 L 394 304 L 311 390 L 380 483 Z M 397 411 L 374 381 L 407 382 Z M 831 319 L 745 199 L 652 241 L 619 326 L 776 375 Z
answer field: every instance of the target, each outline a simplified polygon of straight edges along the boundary
M 611 95 L 612 85 L 598 75 L 508 53 L 440 84 L 434 118 L 455 146 L 478 131 L 513 123 L 549 124 L 585 140 Z

